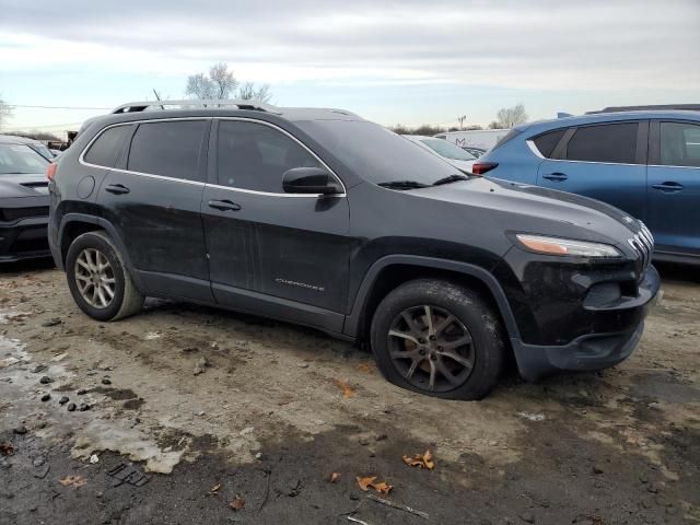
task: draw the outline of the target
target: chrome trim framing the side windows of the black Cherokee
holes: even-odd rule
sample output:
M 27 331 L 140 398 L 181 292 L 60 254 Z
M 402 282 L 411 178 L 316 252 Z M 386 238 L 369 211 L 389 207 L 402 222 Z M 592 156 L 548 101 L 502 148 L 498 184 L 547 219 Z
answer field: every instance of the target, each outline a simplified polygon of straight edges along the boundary
M 338 183 L 340 183 L 340 187 L 342 188 L 342 191 L 340 194 L 277 194 L 277 192 L 272 192 L 272 191 L 258 191 L 258 190 L 254 190 L 254 189 L 246 189 L 246 188 L 236 188 L 233 186 L 221 186 L 218 184 L 208 184 L 206 182 L 199 182 L 199 180 L 188 180 L 186 178 L 177 178 L 177 177 L 168 177 L 166 175 L 156 175 L 154 173 L 142 173 L 142 172 L 135 172 L 131 170 L 121 170 L 118 167 L 109 167 L 109 166 L 102 166 L 100 164 L 92 164 L 90 162 L 85 161 L 85 153 L 88 153 L 88 151 L 90 151 L 90 148 L 92 147 L 92 144 L 102 136 L 102 133 L 104 133 L 107 129 L 110 128 L 116 128 L 117 126 L 131 126 L 133 124 L 150 124 L 150 122 L 170 122 L 170 121 L 177 121 L 177 120 L 243 120 L 243 121 L 250 121 L 250 122 L 255 122 L 255 124 L 262 124 L 265 126 L 268 126 L 270 128 L 277 129 L 279 131 L 281 131 L 282 133 L 284 133 L 285 136 L 290 137 L 293 141 L 295 141 L 298 144 L 300 144 L 302 148 L 304 148 L 308 153 L 311 153 L 311 155 L 316 159 L 326 170 L 328 170 L 328 173 L 330 173 Z M 183 183 L 183 184 L 192 184 L 196 186 L 209 186 L 209 187 L 213 187 L 213 188 L 221 188 L 221 189 L 231 189 L 234 191 L 241 191 L 244 194 L 253 194 L 253 195 L 268 195 L 270 197 L 290 197 L 290 198 L 314 198 L 317 199 L 318 197 L 347 197 L 348 195 L 348 190 L 346 188 L 346 185 L 343 184 L 342 179 L 336 174 L 336 172 L 334 172 L 328 164 L 326 164 L 313 150 L 311 150 L 306 144 L 304 144 L 302 141 L 300 141 L 296 137 L 294 137 L 293 135 L 291 135 L 290 132 L 283 130 L 282 128 L 280 128 L 279 126 L 276 126 L 270 122 L 266 122 L 264 120 L 258 120 L 255 118 L 247 118 L 247 117 L 171 117 L 171 118 L 148 118 L 148 119 L 140 119 L 140 120 L 129 120 L 126 122 L 116 122 L 116 124 L 110 124 L 108 126 L 105 126 L 104 128 L 102 128 L 92 139 L 90 139 L 90 142 L 88 142 L 88 144 L 85 144 L 85 147 L 83 148 L 83 151 L 80 153 L 80 156 L 78 158 L 78 162 L 80 164 L 82 164 L 83 166 L 88 166 L 88 167 L 96 167 L 100 170 L 110 170 L 113 172 L 117 172 L 117 173 L 125 173 L 127 175 L 139 175 L 142 177 L 150 177 L 150 178 L 158 178 L 158 179 L 162 179 L 162 180 L 172 180 L 174 183 Z

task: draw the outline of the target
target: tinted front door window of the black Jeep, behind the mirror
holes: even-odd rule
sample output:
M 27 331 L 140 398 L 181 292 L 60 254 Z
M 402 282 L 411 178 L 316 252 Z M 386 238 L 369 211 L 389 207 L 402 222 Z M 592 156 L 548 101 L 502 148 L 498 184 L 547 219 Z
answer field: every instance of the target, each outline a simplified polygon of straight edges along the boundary
M 219 124 L 219 184 L 281 194 L 282 175 L 294 167 L 323 166 L 295 140 L 269 126 L 234 120 Z

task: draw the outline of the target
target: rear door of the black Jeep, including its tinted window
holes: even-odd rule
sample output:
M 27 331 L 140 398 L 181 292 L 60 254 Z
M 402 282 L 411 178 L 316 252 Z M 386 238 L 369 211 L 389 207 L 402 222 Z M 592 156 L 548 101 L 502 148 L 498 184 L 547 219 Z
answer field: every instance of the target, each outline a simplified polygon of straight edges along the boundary
M 213 301 L 200 217 L 208 119 L 135 126 L 98 202 L 150 293 Z

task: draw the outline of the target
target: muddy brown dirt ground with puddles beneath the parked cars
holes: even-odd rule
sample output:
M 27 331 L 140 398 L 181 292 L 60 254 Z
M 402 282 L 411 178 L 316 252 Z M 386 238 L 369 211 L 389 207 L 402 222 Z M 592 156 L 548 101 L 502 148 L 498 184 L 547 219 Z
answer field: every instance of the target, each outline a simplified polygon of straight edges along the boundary
M 96 323 L 49 262 L 5 267 L 0 524 L 700 523 L 700 273 L 662 275 L 620 366 L 459 402 L 257 317 L 149 301 Z M 401 459 L 427 450 L 433 470 Z

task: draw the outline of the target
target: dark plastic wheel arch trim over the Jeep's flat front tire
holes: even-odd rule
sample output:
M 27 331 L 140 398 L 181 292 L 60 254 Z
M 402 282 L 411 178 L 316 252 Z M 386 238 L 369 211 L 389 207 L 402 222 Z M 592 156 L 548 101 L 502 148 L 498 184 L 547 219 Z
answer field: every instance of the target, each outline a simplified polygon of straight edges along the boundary
M 343 332 L 357 340 L 366 340 L 372 317 L 382 299 L 404 282 L 421 278 L 440 278 L 476 289 L 501 317 L 508 337 L 520 339 L 510 303 L 491 272 L 468 262 L 412 255 L 390 255 L 370 267 L 360 284 L 352 311 L 346 317 Z

